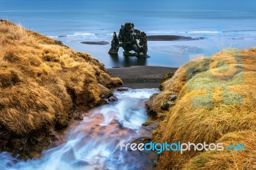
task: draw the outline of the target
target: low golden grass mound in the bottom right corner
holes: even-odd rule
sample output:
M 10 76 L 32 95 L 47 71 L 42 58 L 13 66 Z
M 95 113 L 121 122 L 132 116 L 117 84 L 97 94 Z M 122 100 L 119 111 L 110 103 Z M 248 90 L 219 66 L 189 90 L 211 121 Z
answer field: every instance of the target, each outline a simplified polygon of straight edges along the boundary
M 183 169 L 256 169 L 256 132 L 244 130 L 230 132 L 217 141 L 225 146 L 244 144 L 246 151 L 204 152 L 189 160 Z

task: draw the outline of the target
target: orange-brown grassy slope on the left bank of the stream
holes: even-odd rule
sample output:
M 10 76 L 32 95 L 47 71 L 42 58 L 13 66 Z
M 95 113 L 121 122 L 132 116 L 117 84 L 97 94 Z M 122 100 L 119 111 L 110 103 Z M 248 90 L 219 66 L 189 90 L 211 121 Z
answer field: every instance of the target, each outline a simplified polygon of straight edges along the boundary
M 65 126 L 73 104 L 102 104 L 120 84 L 89 54 L 0 20 L 0 127 L 23 135 Z

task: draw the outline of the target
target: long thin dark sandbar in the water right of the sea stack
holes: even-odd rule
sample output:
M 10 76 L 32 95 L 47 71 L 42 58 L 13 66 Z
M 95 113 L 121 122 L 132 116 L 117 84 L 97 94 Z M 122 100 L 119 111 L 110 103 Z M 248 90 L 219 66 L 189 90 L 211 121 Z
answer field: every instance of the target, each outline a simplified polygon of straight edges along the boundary
M 179 35 L 148 35 L 148 41 L 193 41 L 203 40 L 203 37 L 192 38 L 190 36 L 179 36 Z

